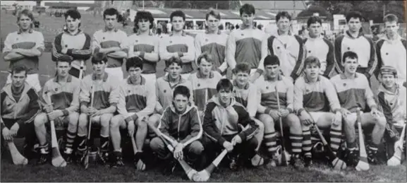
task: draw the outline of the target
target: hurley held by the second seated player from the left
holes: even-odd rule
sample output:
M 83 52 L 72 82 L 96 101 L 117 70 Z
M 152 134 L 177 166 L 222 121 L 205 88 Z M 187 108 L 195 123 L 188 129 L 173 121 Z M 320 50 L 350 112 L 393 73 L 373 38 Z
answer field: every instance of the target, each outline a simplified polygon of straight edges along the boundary
M 49 91 L 46 91 L 45 95 L 47 95 L 47 100 L 48 100 L 47 104 L 51 105 L 51 93 L 49 93 Z M 49 123 L 51 126 L 51 148 L 52 148 L 51 163 L 52 163 L 52 165 L 54 165 L 54 167 L 65 167 L 66 161 L 63 160 L 61 152 L 59 152 L 58 141 L 56 140 L 54 120 L 50 120 Z

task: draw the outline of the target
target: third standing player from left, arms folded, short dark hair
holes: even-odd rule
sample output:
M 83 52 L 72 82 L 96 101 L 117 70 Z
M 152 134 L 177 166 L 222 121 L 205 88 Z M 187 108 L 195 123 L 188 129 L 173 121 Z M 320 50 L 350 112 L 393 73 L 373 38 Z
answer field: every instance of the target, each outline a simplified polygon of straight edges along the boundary
M 93 34 L 92 51 L 94 54 L 99 52 L 107 55 L 105 71 L 121 81 L 123 79 L 121 66 L 127 57 L 128 47 L 127 34 L 116 27 L 118 17 L 119 11 L 115 8 L 107 8 L 103 12 L 104 29 Z

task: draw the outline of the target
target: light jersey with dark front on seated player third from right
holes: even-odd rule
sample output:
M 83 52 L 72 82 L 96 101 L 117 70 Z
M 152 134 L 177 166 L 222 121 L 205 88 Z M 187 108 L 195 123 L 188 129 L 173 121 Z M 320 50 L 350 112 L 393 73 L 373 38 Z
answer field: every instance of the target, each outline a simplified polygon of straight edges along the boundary
M 294 84 L 294 111 L 336 112 L 341 109 L 336 90 L 329 79 L 318 76 L 315 83 L 301 76 Z

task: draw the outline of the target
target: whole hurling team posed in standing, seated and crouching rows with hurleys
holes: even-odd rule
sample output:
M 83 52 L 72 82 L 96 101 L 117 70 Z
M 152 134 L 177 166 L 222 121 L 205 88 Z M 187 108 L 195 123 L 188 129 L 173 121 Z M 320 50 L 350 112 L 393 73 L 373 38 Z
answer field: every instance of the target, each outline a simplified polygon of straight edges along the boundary
M 384 16 L 385 36 L 374 42 L 352 11 L 348 30 L 331 42 L 318 16 L 302 38 L 286 11 L 272 35 L 254 26 L 253 5 L 239 13 L 240 27 L 226 34 L 221 13 L 209 9 L 205 32 L 193 35 L 184 30 L 186 14 L 174 11 L 169 35 L 157 36 L 149 11 L 136 13 L 127 35 L 116 8 L 104 10 L 95 33 L 83 32 L 79 11 L 68 10 L 52 42 L 56 73 L 41 85 L 44 37 L 32 12 L 20 11 L 2 54 L 9 74 L 0 93 L 1 152 L 14 165 L 87 169 L 95 159 L 114 168 L 127 163 L 130 141 L 131 171 L 148 170 L 154 159 L 195 182 L 210 181 L 218 166 L 304 171 L 318 161 L 367 171 L 406 160 L 407 42 L 398 17 Z M 23 150 L 14 138 L 24 138 Z

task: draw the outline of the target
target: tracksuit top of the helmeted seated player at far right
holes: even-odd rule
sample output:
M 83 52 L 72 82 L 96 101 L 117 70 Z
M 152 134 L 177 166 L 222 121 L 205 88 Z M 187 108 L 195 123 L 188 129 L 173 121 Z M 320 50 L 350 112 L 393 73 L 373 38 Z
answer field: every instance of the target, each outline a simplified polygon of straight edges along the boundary
M 396 92 L 393 93 L 380 85 L 378 92 L 377 100 L 387 123 L 403 126 L 407 109 L 406 88 L 397 85 Z

